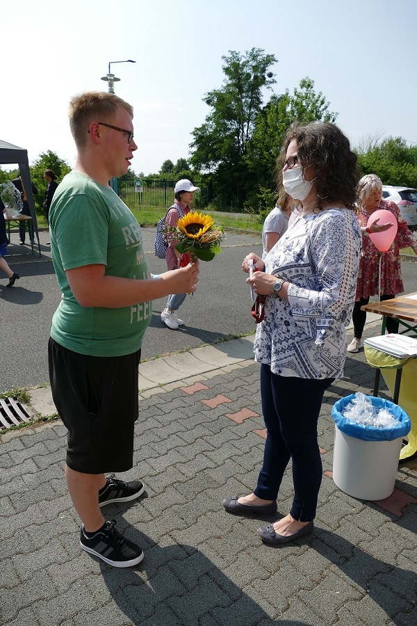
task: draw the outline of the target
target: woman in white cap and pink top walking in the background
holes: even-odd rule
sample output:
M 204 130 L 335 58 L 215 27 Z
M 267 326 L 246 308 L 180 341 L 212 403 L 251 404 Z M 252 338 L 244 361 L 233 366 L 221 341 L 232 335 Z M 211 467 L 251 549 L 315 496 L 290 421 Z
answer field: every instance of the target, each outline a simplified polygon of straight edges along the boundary
M 165 218 L 165 224 L 172 227 L 176 227 L 179 218 L 189 213 L 190 204 L 193 202 L 194 198 L 194 192 L 200 190 L 199 187 L 195 187 L 190 180 L 183 178 L 177 182 L 174 191 L 174 204 L 170 207 L 170 210 L 167 212 L 167 216 Z M 167 268 L 172 270 L 179 268 L 180 264 L 181 266 L 187 265 L 190 262 L 190 255 L 181 255 L 177 248 L 175 248 L 175 243 L 170 241 L 170 245 L 168 246 L 165 254 L 165 259 L 167 262 Z M 168 296 L 167 305 L 161 313 L 161 319 L 168 328 L 175 329 L 182 326 L 183 320 L 177 317 L 177 311 L 186 299 L 186 295 L 187 294 L 172 294 L 171 296 Z

